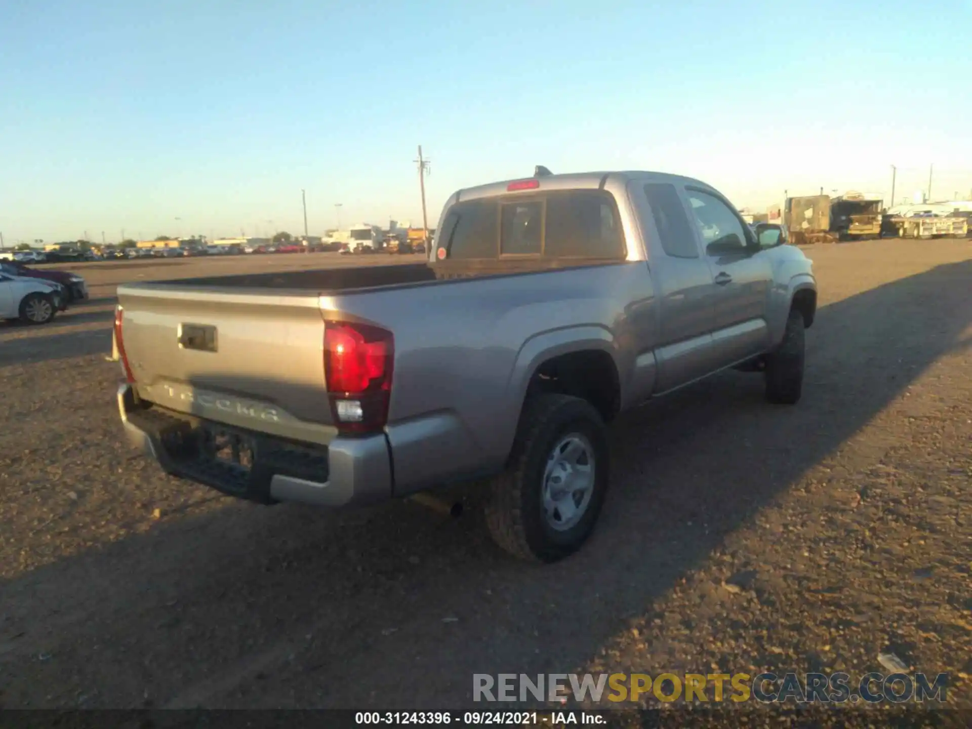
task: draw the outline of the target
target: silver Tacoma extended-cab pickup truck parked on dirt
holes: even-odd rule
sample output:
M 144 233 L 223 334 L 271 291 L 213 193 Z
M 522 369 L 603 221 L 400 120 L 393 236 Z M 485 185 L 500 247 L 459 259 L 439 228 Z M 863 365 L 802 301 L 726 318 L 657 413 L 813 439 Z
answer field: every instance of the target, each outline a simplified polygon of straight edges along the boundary
M 127 284 L 121 420 L 260 503 L 489 479 L 494 538 L 557 560 L 594 528 L 619 411 L 727 367 L 800 399 L 816 280 L 768 237 L 697 180 L 538 168 L 454 193 L 428 262 Z

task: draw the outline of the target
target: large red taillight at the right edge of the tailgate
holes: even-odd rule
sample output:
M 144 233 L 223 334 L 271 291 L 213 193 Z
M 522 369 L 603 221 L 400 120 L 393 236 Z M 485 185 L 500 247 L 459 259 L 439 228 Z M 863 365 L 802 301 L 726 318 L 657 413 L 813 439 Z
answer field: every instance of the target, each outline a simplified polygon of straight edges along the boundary
M 339 431 L 368 433 L 385 427 L 394 363 L 391 331 L 347 322 L 325 323 L 324 375 Z

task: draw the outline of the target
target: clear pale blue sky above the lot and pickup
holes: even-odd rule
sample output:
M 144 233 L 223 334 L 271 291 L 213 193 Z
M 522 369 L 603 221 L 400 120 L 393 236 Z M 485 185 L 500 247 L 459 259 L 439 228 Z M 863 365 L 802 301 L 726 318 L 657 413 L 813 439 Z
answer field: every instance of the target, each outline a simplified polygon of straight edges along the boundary
M 0 231 L 302 231 L 658 169 L 738 205 L 972 189 L 972 2 L 3 0 Z M 937 108 L 937 110 L 936 110 Z M 932 109 L 933 111 L 928 111 Z M 181 218 L 181 221 L 176 221 Z M 273 221 L 273 224 L 268 221 Z

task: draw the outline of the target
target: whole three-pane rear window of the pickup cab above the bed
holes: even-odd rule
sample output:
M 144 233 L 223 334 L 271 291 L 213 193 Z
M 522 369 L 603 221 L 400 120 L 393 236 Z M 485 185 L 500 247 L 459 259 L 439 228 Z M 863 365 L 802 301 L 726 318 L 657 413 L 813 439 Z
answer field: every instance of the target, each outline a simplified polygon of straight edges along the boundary
M 448 259 L 624 260 L 614 199 L 605 191 L 553 191 L 454 205 L 439 245 Z

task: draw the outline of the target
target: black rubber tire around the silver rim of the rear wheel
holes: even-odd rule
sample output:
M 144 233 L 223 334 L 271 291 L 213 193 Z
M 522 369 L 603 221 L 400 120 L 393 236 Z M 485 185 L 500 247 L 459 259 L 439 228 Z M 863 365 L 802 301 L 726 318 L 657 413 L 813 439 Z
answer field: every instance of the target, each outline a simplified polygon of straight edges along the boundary
M 591 446 L 594 483 L 579 521 L 558 531 L 548 523 L 543 507 L 544 470 L 555 446 L 573 434 Z M 590 537 L 608 481 L 608 440 L 598 411 L 586 400 L 567 395 L 531 397 L 524 404 L 506 469 L 491 484 L 486 524 L 497 544 L 513 556 L 556 562 Z

